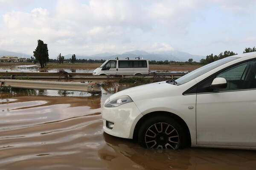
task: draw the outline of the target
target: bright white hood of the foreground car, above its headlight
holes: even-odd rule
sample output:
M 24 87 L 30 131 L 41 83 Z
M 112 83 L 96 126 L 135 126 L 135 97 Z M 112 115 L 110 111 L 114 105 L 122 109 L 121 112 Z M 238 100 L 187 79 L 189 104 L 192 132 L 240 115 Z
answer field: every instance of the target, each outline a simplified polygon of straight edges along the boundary
M 172 88 L 177 88 L 177 85 L 171 85 L 169 83 L 164 82 L 155 82 L 151 84 L 146 84 L 146 85 L 140 85 L 136 86 L 133 88 L 128 88 L 123 91 L 119 91 L 116 94 L 113 94 L 112 96 L 109 97 L 109 99 L 115 99 L 119 96 L 130 96 L 131 99 L 136 99 L 137 97 L 144 96 L 144 95 L 154 95 L 154 94 L 159 94 L 159 93 L 166 93 L 166 90 L 170 90 Z

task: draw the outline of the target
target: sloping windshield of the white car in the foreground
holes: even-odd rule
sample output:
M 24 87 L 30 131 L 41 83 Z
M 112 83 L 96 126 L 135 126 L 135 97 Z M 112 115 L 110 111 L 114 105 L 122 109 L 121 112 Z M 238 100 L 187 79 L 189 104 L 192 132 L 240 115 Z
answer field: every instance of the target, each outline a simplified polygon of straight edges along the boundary
M 184 84 L 186 82 L 189 82 L 192 79 L 195 79 L 198 76 L 201 76 L 202 74 L 207 73 L 208 71 L 217 68 L 218 66 L 221 66 L 227 62 L 233 61 L 235 59 L 239 59 L 239 57 L 227 57 L 224 59 L 219 59 L 215 62 L 209 63 L 207 65 L 204 65 L 203 67 L 200 67 L 186 75 L 184 75 L 183 77 L 180 77 L 179 79 L 171 80 L 171 81 L 167 81 L 170 84 L 177 84 L 177 85 L 181 85 Z

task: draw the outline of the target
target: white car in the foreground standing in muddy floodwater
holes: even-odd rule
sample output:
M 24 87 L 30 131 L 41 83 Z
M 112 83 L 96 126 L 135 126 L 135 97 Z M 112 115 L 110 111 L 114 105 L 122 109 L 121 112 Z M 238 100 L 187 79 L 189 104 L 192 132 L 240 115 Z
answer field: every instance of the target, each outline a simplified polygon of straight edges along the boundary
M 143 147 L 256 149 L 256 52 L 110 96 L 103 130 Z

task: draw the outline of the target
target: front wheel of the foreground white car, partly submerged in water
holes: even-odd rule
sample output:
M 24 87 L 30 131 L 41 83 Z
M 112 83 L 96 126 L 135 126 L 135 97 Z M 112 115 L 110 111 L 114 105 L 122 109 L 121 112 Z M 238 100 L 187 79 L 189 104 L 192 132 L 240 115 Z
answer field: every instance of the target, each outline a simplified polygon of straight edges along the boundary
M 138 141 L 145 148 L 179 149 L 186 144 L 181 125 L 169 116 L 151 117 L 140 127 Z

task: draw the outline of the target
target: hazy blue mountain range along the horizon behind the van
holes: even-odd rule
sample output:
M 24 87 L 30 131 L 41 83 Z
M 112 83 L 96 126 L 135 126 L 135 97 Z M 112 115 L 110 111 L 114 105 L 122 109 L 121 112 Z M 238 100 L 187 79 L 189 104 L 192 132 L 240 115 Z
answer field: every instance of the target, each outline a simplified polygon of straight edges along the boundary
M 16 52 L 11 52 L 11 51 L 3 51 L 0 50 L 0 56 L 4 55 L 9 55 L 9 56 L 17 56 L 17 57 L 25 57 L 25 58 L 30 58 L 32 55 L 29 54 L 23 54 L 23 53 L 16 53 Z M 72 54 L 67 54 L 64 56 L 66 59 L 71 58 Z M 148 53 L 146 51 L 128 51 L 123 54 L 117 54 L 117 53 L 102 53 L 102 54 L 95 54 L 95 55 L 79 55 L 76 54 L 77 59 L 114 59 L 116 57 L 121 58 L 135 58 L 135 57 L 140 57 L 148 60 L 156 60 L 156 61 L 164 61 L 164 60 L 169 60 L 169 61 L 188 61 L 189 59 L 193 59 L 193 61 L 199 62 L 200 59 L 205 59 L 205 56 L 199 56 L 199 55 L 192 55 L 186 52 L 181 52 L 181 51 L 161 51 L 161 52 L 153 52 L 153 53 Z M 49 57 L 51 58 L 51 57 Z

